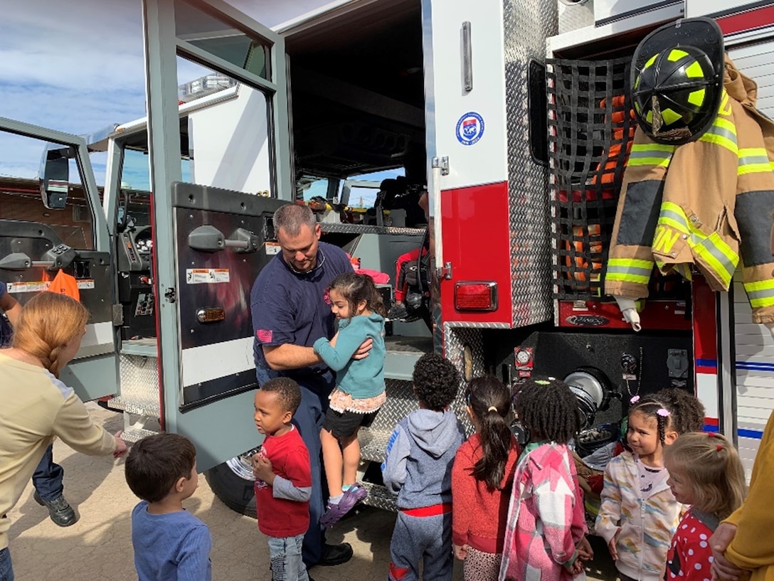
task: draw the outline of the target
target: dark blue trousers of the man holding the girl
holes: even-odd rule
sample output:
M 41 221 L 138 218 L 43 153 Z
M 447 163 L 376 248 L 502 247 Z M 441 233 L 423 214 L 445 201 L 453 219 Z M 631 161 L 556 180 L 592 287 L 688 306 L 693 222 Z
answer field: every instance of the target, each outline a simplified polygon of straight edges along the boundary
M 281 374 L 269 367 L 255 367 L 255 375 L 259 384 Z M 325 412 L 328 408 L 328 395 L 333 390 L 335 376 L 328 371 L 325 374 L 294 377 L 301 388 L 301 405 L 293 414 L 293 424 L 296 425 L 309 449 L 309 460 L 312 467 L 312 496 L 309 499 L 309 530 L 303 538 L 303 562 L 307 566 L 317 565 L 323 554 L 325 544 L 324 528 L 320 525 L 320 517 L 325 512 L 323 502 L 323 471 L 320 460 L 320 429 L 323 427 Z

